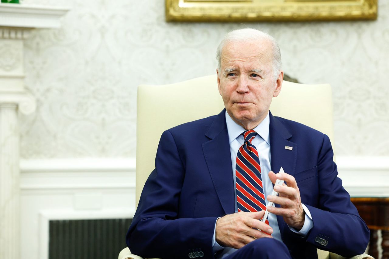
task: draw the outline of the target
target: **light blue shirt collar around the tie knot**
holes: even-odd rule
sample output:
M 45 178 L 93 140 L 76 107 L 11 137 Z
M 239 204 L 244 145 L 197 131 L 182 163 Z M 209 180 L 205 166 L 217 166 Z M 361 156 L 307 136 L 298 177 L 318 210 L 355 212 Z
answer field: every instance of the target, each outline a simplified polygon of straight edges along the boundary
M 239 135 L 245 132 L 246 130 L 244 129 L 244 127 L 234 122 L 227 111 L 226 111 L 226 123 L 227 123 L 228 139 L 231 144 L 231 142 L 234 139 L 239 137 Z M 259 125 L 255 127 L 253 130 L 255 130 L 255 132 L 257 132 L 257 134 L 261 136 L 263 140 L 265 140 L 266 143 L 270 146 L 269 125 L 270 125 L 270 116 L 268 113 L 266 118 L 261 123 L 259 123 Z

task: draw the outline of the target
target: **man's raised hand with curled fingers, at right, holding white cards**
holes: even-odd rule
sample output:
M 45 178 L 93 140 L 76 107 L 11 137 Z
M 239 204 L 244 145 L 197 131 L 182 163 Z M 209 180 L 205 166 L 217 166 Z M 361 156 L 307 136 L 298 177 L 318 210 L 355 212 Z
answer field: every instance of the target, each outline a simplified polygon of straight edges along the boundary
M 277 179 L 284 180 L 286 184 L 274 186 L 274 190 L 279 192 L 279 196 L 267 196 L 269 202 L 277 203 L 281 207 L 267 207 L 267 210 L 270 213 L 282 216 L 288 226 L 300 230 L 304 225 L 305 211 L 301 205 L 300 190 L 297 187 L 296 180 L 289 174 L 275 174 L 273 171 L 269 172 L 269 178 L 273 184 Z

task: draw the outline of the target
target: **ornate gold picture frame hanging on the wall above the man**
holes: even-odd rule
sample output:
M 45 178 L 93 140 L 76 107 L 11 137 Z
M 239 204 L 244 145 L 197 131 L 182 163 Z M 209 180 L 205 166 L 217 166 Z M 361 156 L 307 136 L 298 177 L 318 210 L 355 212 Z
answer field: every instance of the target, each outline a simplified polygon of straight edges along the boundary
M 165 0 L 166 21 L 256 22 L 377 19 L 378 0 Z

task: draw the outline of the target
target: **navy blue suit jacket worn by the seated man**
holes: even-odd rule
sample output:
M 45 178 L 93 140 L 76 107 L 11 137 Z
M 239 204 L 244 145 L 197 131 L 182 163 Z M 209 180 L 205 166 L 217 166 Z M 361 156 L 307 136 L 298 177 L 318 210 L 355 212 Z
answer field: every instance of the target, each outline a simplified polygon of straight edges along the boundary
M 145 183 L 126 237 L 133 254 L 182 259 L 190 252 L 202 251 L 204 258 L 214 258 L 216 219 L 235 212 L 224 113 L 163 132 L 156 169 Z M 270 113 L 270 147 L 272 170 L 279 172 L 282 166 L 295 177 L 301 202 L 314 222 L 302 238 L 277 216 L 282 240 L 292 257 L 317 258 L 316 248 L 342 256 L 362 254 L 370 232 L 337 177 L 328 136 Z M 315 242 L 317 237 L 328 244 Z

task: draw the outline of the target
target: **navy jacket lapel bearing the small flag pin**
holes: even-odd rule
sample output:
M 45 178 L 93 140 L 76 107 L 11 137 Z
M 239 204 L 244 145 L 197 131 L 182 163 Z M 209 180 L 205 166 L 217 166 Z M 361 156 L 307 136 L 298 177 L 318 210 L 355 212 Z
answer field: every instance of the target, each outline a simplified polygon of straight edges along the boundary
M 270 112 L 269 112 L 270 113 Z M 287 174 L 294 176 L 297 162 L 298 145 L 288 141 L 292 134 L 286 127 L 270 113 L 270 155 L 272 171 L 278 173 L 282 167 Z M 293 148 L 293 150 L 286 149 L 285 146 Z M 274 185 L 273 185 L 274 186 Z M 280 207 L 275 204 L 275 207 Z M 277 216 L 280 233 L 283 236 L 285 221 L 282 216 Z

